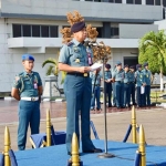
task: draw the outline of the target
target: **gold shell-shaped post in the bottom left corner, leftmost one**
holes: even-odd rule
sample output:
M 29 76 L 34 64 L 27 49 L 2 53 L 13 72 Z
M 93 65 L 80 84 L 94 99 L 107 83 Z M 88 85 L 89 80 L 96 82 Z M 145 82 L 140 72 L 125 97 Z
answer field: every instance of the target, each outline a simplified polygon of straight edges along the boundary
M 9 149 L 10 147 L 10 133 L 9 128 L 6 126 L 4 128 L 4 166 L 11 166 L 10 157 L 9 157 Z

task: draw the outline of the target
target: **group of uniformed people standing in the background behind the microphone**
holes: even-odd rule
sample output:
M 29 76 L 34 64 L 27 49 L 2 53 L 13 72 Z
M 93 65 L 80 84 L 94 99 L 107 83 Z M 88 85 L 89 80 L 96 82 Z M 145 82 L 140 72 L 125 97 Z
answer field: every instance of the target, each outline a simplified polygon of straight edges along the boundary
M 117 108 L 131 107 L 137 104 L 137 107 L 151 106 L 151 77 L 152 73 L 148 70 L 148 63 L 144 63 L 135 66 L 128 66 L 128 64 L 122 68 L 122 63 L 117 62 L 114 69 L 111 70 L 110 64 L 105 64 L 104 84 L 105 84 L 105 103 L 108 103 L 108 107 L 116 106 Z M 101 81 L 103 80 L 101 69 L 94 71 L 91 74 L 92 79 L 92 100 L 91 110 L 101 110 Z M 135 91 L 136 90 L 136 91 Z M 113 92 L 113 97 L 112 97 Z M 135 95 L 136 92 L 136 95 Z M 136 98 L 135 98 L 136 96 Z

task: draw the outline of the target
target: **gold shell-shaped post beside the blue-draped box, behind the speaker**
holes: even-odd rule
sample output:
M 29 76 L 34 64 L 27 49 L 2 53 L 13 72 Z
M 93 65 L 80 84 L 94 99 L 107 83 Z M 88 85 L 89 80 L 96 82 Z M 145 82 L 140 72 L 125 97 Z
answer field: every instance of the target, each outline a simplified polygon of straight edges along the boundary
M 50 110 L 46 110 L 46 146 L 51 146 L 51 117 L 50 117 Z

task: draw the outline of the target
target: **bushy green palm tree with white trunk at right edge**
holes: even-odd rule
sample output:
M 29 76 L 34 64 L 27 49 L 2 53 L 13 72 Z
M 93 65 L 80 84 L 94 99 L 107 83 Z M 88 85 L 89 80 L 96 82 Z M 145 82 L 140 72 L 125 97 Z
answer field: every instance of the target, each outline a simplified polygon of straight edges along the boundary
M 160 74 L 160 91 L 163 87 L 163 75 L 166 74 L 166 34 L 164 31 L 146 33 L 139 41 L 139 63 L 148 62 L 153 74 Z

